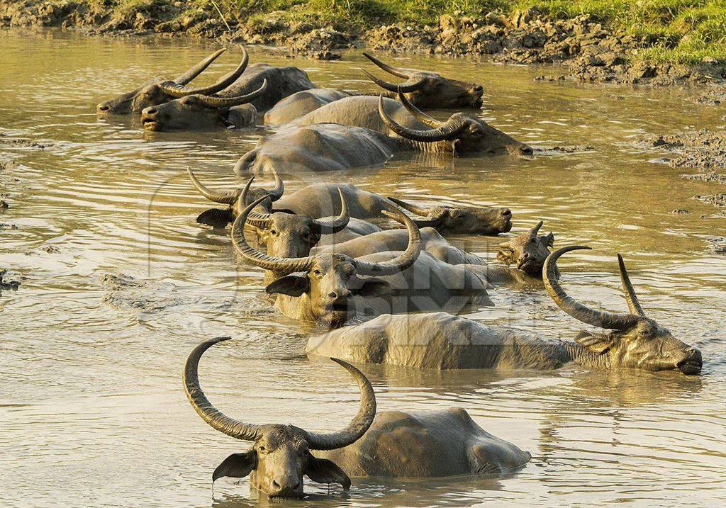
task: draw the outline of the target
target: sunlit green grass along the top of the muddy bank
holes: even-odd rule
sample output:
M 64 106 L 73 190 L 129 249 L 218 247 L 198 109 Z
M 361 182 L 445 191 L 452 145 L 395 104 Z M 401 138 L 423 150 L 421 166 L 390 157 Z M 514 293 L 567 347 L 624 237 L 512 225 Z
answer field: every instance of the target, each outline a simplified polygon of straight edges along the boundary
M 240 22 L 282 10 L 290 20 L 315 20 L 338 28 L 373 28 L 394 22 L 433 25 L 442 14 L 481 16 L 534 9 L 550 19 L 590 15 L 642 40 L 639 60 L 726 62 L 726 0 L 216 0 Z M 195 4 L 211 4 L 195 0 Z

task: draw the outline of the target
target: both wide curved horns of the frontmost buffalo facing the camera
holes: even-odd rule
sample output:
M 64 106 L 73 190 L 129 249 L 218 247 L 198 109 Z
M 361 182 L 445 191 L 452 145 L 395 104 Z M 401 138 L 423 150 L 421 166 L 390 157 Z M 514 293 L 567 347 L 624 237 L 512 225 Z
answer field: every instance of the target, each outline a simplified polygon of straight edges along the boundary
M 253 425 L 228 417 L 212 405 L 205 396 L 199 383 L 199 360 L 202 358 L 204 352 L 216 343 L 229 340 L 230 338 L 216 337 L 194 348 L 194 351 L 189 354 L 184 364 L 184 392 L 187 393 L 189 403 L 192 404 L 197 414 L 211 425 L 213 429 L 242 441 L 256 441 L 258 438 L 261 438 L 265 426 Z M 355 443 L 368 430 L 375 417 L 375 392 L 367 377 L 345 361 L 335 358 L 332 360 L 340 366 L 343 366 L 358 383 L 361 395 L 360 408 L 358 414 L 356 414 L 343 430 L 336 433 L 307 432 L 308 446 L 311 450 L 335 450 L 336 448 L 343 448 L 344 446 Z

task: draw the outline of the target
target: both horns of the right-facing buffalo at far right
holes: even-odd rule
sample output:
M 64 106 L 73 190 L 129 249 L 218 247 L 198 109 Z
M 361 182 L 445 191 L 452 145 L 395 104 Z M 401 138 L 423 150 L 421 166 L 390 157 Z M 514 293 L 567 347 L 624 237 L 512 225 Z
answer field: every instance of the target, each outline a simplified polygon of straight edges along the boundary
M 547 261 L 544 261 L 544 269 L 542 270 L 544 286 L 547 287 L 547 292 L 550 293 L 552 300 L 570 316 L 583 323 L 591 324 L 594 327 L 616 330 L 627 330 L 635 327 L 638 321 L 645 317 L 645 311 L 643 311 L 643 307 L 640 306 L 637 295 L 635 295 L 635 288 L 630 282 L 630 277 L 625 269 L 622 256 L 618 254 L 618 269 L 620 271 L 620 282 L 625 293 L 625 300 L 630 311 L 629 314 L 599 311 L 585 306 L 567 295 L 558 282 L 557 260 L 561 255 L 571 250 L 590 250 L 590 247 L 584 247 L 583 245 L 562 247 L 547 256 Z

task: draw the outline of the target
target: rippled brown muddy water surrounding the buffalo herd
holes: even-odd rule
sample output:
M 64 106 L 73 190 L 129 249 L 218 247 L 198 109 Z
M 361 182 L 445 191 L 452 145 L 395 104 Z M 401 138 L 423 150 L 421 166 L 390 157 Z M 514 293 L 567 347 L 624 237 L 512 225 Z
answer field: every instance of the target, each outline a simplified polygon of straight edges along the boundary
M 187 182 L 239 184 L 234 158 L 259 131 L 144 134 L 99 119 L 94 105 L 152 75 L 175 75 L 211 46 L 174 41 L 1 33 L 0 129 L 48 146 L 0 143 L 0 266 L 23 277 L 0 296 L 0 503 L 3 506 L 240 506 L 248 485 L 211 472 L 245 444 L 216 433 L 189 407 L 181 366 L 208 337 L 211 400 L 251 422 L 333 430 L 356 411 L 342 369 L 303 353 L 311 329 L 274 314 L 256 294 L 262 274 L 235 263 L 229 239 L 195 224 L 208 204 Z M 313 81 L 372 90 L 355 54 L 298 65 Z M 227 54 L 210 76 L 232 66 Z M 640 134 L 722 125 L 687 91 L 535 83 L 542 70 L 478 60 L 396 60 L 484 83 L 485 118 L 536 147 L 590 145 L 575 154 L 403 157 L 380 170 L 326 175 L 399 196 L 451 197 L 513 209 L 515 231 L 539 218 L 557 245 L 587 243 L 560 267 L 573 295 L 624 310 L 622 253 L 650 316 L 703 351 L 701 377 L 644 372 L 417 372 L 367 367 L 380 409 L 462 406 L 484 429 L 531 451 L 504 478 L 354 480 L 347 495 L 309 488 L 311 506 L 638 506 L 726 502 L 726 258 L 707 237 L 726 233 L 691 197 L 714 184 L 680 179 L 635 147 Z M 367 65 L 370 67 L 370 65 Z M 379 73 L 380 74 L 380 73 Z M 442 115 L 444 113 L 441 113 Z M 0 140 L 2 138 L 0 137 Z M 309 177 L 306 177 L 309 179 Z M 287 177 L 287 188 L 305 179 Z M 688 215 L 673 215 L 674 208 Z M 703 218 L 701 216 L 704 216 Z M 455 239 L 489 253 L 500 239 Z M 48 252 L 50 251 L 50 252 Z M 490 254 L 493 255 L 493 254 Z M 470 316 L 572 337 L 582 327 L 542 291 L 497 290 Z M 295 504 L 300 504 L 295 503 Z

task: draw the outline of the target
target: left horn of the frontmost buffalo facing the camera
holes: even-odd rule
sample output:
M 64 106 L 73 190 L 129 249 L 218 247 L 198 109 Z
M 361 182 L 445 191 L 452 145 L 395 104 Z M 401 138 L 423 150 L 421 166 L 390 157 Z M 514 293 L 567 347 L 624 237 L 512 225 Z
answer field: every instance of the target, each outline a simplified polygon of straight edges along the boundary
M 240 420 L 230 418 L 216 407 L 204 395 L 202 387 L 199 385 L 199 375 L 197 369 L 199 367 L 199 359 L 205 351 L 216 343 L 223 340 L 229 340 L 232 337 L 216 337 L 211 340 L 197 345 L 192 353 L 189 353 L 186 363 L 184 363 L 184 392 L 192 407 L 197 411 L 202 419 L 207 422 L 215 430 L 232 436 L 232 438 L 241 439 L 242 441 L 256 441 L 261 435 L 261 425 L 250 425 L 249 423 L 240 422 Z

